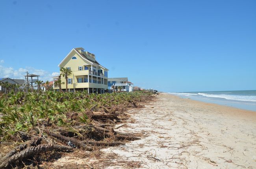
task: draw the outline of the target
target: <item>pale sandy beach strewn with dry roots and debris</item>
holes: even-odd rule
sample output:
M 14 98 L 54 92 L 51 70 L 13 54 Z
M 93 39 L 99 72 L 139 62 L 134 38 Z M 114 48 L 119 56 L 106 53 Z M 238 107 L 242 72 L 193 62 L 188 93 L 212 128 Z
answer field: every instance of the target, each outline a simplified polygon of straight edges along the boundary
M 118 129 L 141 140 L 102 149 L 105 165 L 123 169 L 254 169 L 256 112 L 161 93 Z M 102 161 L 102 162 L 103 162 Z M 63 162 L 63 159 L 62 159 Z

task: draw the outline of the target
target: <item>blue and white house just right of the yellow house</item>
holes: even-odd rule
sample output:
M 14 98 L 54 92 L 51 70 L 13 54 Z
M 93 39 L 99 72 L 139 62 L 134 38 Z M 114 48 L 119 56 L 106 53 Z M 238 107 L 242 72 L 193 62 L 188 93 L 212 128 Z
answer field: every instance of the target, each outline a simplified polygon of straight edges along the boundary
M 115 88 L 117 88 L 118 86 L 121 86 L 122 87 L 121 91 L 127 91 L 127 92 L 134 91 L 133 83 L 128 82 L 128 78 L 108 78 L 108 89 L 112 89 L 113 85 L 115 86 Z

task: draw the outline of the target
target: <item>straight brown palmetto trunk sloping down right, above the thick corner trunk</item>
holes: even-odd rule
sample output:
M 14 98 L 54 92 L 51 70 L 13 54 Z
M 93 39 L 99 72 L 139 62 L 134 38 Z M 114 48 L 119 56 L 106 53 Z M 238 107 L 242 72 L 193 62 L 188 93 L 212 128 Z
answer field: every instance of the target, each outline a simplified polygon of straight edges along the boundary
M 75 138 L 62 136 L 61 134 L 52 133 L 52 132 L 50 132 L 48 130 L 45 130 L 45 133 L 47 133 L 49 136 L 58 138 L 59 140 L 62 140 L 62 141 L 66 141 L 66 142 L 70 141 L 73 144 L 75 144 L 76 146 L 78 146 L 78 147 L 80 147 L 80 148 L 82 148 L 84 150 L 93 151 L 92 147 L 89 147 L 89 146 L 85 145 L 83 142 L 81 142 L 80 140 L 77 140 Z

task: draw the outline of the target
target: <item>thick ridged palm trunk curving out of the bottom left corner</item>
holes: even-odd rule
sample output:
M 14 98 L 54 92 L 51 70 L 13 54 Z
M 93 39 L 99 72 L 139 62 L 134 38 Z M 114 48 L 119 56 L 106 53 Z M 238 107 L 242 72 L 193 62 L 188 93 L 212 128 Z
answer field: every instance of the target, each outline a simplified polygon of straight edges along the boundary
M 54 149 L 60 149 L 60 150 L 71 150 L 72 147 L 68 146 L 62 146 L 62 145 L 54 145 L 54 144 L 41 144 L 38 145 L 37 147 L 28 147 L 19 153 L 13 154 L 11 157 L 8 159 L 4 160 L 2 164 L 0 164 L 0 169 L 8 167 L 10 164 L 17 160 L 22 160 L 28 156 L 31 155 L 37 155 L 39 153 L 43 153 L 46 151 L 52 151 Z

